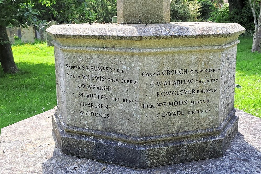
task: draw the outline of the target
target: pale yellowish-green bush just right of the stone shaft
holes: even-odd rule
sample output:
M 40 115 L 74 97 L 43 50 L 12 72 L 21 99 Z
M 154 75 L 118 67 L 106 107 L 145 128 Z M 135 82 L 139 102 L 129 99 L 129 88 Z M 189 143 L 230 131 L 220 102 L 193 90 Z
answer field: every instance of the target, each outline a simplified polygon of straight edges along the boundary
M 170 16 L 174 22 L 198 21 L 200 7 L 197 0 L 172 0 Z

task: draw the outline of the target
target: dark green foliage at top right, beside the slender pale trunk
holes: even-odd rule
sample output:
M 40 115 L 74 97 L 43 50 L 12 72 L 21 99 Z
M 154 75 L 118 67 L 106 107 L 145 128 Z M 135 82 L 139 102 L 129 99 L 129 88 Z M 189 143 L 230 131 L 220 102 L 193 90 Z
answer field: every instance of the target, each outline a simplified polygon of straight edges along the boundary
M 231 13 L 229 13 L 228 4 L 224 4 L 224 6 L 220 9 L 216 9 L 210 13 L 209 21 L 213 22 L 228 22 L 228 23 L 239 23 L 244 28 L 246 28 L 246 32 L 253 32 L 254 30 L 254 22 L 253 22 L 253 14 L 246 2 L 247 5 L 243 7 L 243 9 L 238 10 L 234 9 Z M 260 6 L 257 8 L 259 9 Z M 259 16 L 257 10 L 256 16 Z

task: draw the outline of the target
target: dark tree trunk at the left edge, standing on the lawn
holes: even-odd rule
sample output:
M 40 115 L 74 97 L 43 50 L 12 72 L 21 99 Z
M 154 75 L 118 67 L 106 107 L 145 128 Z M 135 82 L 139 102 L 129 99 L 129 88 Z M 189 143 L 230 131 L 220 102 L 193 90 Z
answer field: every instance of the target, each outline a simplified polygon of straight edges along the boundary
M 8 41 L 8 43 L 0 43 L 0 63 L 4 70 L 4 73 L 15 74 L 18 72 L 18 68 L 16 67 L 13 51 L 11 47 L 11 43 L 9 42 L 9 38 L 7 35 L 6 27 L 0 25 L 0 41 Z

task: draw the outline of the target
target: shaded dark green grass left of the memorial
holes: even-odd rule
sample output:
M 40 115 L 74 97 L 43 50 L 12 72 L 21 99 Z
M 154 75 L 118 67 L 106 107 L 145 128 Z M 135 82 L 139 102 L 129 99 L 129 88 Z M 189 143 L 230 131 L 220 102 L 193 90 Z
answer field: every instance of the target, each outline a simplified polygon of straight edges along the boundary
M 22 62 L 17 67 L 17 74 L 3 74 L 0 68 L 0 129 L 56 105 L 54 64 Z

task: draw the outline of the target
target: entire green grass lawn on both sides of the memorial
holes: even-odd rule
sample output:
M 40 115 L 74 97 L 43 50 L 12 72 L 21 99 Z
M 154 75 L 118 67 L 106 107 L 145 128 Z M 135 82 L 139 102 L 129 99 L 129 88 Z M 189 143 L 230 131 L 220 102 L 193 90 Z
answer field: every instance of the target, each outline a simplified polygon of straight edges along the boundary
M 235 107 L 261 116 L 261 54 L 251 53 L 252 39 L 241 37 L 236 64 Z M 13 45 L 20 70 L 4 75 L 0 68 L 0 129 L 50 110 L 56 105 L 54 47 L 45 42 Z

